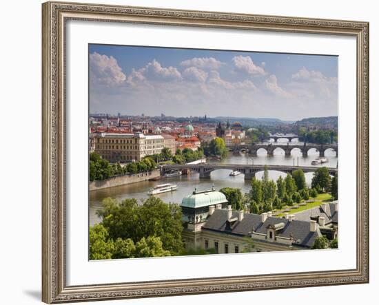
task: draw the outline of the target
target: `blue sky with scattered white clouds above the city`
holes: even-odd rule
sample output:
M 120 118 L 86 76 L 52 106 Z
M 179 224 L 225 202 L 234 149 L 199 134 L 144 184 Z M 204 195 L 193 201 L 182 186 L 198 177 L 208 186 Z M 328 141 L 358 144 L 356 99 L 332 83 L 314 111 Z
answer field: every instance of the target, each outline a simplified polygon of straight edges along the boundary
M 90 113 L 337 116 L 338 56 L 89 45 Z

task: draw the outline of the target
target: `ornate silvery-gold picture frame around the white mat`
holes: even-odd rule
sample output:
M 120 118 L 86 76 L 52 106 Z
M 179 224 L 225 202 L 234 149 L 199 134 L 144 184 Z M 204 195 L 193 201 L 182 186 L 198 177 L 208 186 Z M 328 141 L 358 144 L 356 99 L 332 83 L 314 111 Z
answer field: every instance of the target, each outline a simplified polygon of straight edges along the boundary
M 369 23 L 59 2 L 43 3 L 42 12 L 43 302 L 50 304 L 369 282 Z M 358 135 L 356 269 L 67 286 L 65 283 L 65 21 L 68 19 L 324 33 L 356 37 Z

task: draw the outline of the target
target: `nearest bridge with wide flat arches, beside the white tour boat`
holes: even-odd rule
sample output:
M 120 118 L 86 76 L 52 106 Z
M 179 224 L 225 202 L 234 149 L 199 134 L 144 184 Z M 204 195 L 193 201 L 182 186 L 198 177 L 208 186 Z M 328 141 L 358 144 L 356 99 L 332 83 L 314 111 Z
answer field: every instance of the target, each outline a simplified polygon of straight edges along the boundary
M 296 169 L 303 169 L 305 173 L 310 173 L 316 171 L 319 167 L 312 166 L 289 166 L 289 165 L 266 165 L 267 170 L 269 171 L 281 171 L 283 173 L 292 173 L 296 171 Z M 163 176 L 166 171 L 183 171 L 183 170 L 191 170 L 196 171 L 200 174 L 200 178 L 209 178 L 211 176 L 212 171 L 216 169 L 230 169 L 231 171 L 239 171 L 245 175 L 246 180 L 251 180 L 255 177 L 255 174 L 258 171 L 264 171 L 265 165 L 243 165 L 243 164 L 197 164 L 197 165 L 189 165 L 189 164 L 175 164 L 175 165 L 163 165 L 161 167 L 161 175 Z M 328 167 L 329 173 L 331 176 L 334 176 L 338 169 L 334 167 Z

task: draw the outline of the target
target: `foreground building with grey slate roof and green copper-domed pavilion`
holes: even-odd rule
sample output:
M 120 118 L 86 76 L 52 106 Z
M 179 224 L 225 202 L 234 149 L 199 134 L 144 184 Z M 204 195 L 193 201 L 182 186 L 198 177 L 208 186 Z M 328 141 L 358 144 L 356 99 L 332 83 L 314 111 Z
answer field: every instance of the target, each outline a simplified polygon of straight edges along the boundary
M 318 220 L 303 215 L 297 219 L 297 215 L 288 214 L 277 218 L 272 216 L 272 212 L 258 215 L 232 211 L 230 205 L 223 209 L 227 203 L 212 204 L 219 201 L 218 196 L 212 196 L 212 191 L 195 191 L 183 198 L 183 242 L 187 250 L 214 249 L 216 253 L 239 253 L 247 249 L 258 252 L 311 249 L 316 238 L 323 234 L 331 237 L 334 233 L 336 237 L 336 230 L 327 227 L 322 216 Z M 209 199 L 205 200 L 205 196 Z M 206 207 L 208 211 L 205 211 Z M 329 207 L 329 210 L 333 211 L 332 218 L 336 221 L 335 207 Z

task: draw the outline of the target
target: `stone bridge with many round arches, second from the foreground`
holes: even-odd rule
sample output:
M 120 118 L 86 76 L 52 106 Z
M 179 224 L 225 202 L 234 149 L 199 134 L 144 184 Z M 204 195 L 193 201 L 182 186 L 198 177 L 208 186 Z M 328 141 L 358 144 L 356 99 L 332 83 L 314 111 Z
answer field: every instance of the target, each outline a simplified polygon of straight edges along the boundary
M 265 149 L 265 151 L 267 151 L 267 155 L 272 156 L 274 155 L 274 150 L 278 148 L 283 149 L 285 151 L 285 156 L 291 156 L 292 149 L 300 149 L 301 153 L 303 154 L 303 157 L 307 157 L 309 149 L 312 149 L 312 148 L 320 152 L 320 157 L 325 157 L 325 151 L 327 151 L 327 149 L 336 151 L 336 154 L 338 156 L 338 145 L 336 144 L 304 143 L 303 145 L 289 145 L 289 143 L 287 143 L 284 145 L 272 145 L 271 143 L 270 144 L 261 143 L 261 144 L 252 144 L 252 145 L 234 145 L 234 147 L 232 147 L 233 151 L 245 150 L 249 154 L 252 154 L 254 156 L 256 156 L 258 149 Z

